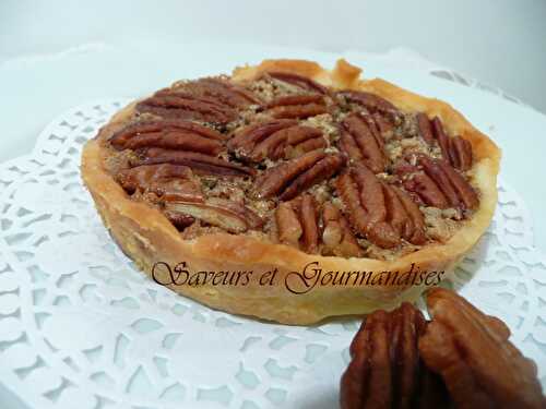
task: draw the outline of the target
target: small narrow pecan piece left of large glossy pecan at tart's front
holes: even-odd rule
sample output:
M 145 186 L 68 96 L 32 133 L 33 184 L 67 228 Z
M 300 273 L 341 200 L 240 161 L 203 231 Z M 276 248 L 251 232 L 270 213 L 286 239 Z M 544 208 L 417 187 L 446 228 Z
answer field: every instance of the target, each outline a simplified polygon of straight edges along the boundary
M 322 208 L 322 242 L 328 253 L 342 257 L 358 257 L 363 251 L 347 219 L 337 207 L 327 202 Z

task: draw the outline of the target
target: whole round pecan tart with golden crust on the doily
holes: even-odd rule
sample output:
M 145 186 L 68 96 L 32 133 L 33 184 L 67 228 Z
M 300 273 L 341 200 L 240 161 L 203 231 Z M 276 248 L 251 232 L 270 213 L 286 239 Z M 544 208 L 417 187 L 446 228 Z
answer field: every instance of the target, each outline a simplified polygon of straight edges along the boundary
M 207 305 L 288 324 L 394 308 L 425 284 L 382 273 L 443 272 L 484 233 L 500 152 L 448 104 L 359 75 L 344 60 L 266 60 L 177 82 L 86 144 L 83 179 L 147 274 L 225 273 L 166 277 Z M 308 289 L 330 275 L 287 290 L 296 272 Z

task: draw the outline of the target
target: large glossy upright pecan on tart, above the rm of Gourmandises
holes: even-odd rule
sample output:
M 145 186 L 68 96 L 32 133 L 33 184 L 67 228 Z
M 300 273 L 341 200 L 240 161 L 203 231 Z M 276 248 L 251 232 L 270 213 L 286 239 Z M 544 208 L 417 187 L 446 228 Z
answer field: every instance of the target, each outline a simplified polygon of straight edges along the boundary
M 400 243 L 400 236 L 387 221 L 382 184 L 371 170 L 355 166 L 337 178 L 336 188 L 357 232 L 383 249 Z

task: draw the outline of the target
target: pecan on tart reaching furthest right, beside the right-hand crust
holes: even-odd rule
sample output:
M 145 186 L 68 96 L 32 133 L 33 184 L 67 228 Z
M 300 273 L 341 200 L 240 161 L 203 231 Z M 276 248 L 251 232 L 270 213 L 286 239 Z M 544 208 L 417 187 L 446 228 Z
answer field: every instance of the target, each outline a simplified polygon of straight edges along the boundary
M 455 169 L 441 159 L 419 156 L 417 161 L 425 173 L 416 173 L 404 182 L 425 204 L 439 208 L 473 209 L 479 204 L 476 191 Z

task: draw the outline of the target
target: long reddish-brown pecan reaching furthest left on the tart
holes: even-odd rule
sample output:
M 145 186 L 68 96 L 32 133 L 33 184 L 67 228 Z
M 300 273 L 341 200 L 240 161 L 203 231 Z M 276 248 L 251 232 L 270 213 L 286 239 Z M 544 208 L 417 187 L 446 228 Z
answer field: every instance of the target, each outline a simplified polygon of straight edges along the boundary
M 195 122 L 181 120 L 140 121 L 110 137 L 117 149 L 163 147 L 217 155 L 225 136 Z

